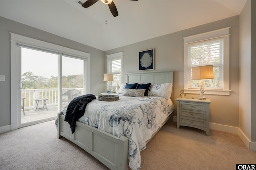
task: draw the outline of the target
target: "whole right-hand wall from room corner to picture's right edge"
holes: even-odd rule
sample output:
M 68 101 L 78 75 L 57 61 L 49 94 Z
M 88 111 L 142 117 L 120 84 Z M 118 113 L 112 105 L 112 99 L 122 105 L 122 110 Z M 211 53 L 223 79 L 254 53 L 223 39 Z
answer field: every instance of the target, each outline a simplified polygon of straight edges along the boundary
M 256 1 L 247 0 L 240 14 L 239 128 L 256 150 Z M 253 147 L 254 146 L 254 147 Z M 252 149 L 251 149 L 252 148 Z

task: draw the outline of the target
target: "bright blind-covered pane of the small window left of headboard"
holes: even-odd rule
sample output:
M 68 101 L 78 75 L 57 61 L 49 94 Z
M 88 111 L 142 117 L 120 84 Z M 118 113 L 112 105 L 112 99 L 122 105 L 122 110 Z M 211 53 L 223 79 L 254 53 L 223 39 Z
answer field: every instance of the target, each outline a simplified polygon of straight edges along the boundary
M 108 73 L 112 73 L 114 81 L 110 82 L 110 86 L 116 86 L 121 83 L 121 59 L 108 59 Z

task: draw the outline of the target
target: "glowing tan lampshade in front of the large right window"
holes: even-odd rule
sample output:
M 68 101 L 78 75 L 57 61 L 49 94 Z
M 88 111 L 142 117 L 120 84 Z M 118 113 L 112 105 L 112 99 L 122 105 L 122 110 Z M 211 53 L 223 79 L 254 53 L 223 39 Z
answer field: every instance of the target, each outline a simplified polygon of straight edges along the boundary
M 213 79 L 213 66 L 192 67 L 192 80 Z

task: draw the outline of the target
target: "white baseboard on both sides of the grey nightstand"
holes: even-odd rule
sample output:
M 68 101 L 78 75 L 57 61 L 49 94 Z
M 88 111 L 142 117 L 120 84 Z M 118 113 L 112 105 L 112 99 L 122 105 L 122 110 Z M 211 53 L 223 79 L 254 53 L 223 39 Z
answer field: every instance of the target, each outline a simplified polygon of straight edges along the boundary
M 176 116 L 173 117 L 173 121 L 177 122 L 177 117 Z M 218 124 L 218 123 L 210 123 L 210 129 L 236 134 L 240 137 L 240 139 L 243 141 L 243 143 L 246 145 L 246 147 L 249 150 L 252 150 L 252 151 L 256 152 L 256 142 L 250 141 L 248 139 L 248 137 L 246 137 L 246 135 L 241 131 L 240 128 L 233 127 L 233 126 L 228 126 L 228 125 L 221 125 L 221 124 Z

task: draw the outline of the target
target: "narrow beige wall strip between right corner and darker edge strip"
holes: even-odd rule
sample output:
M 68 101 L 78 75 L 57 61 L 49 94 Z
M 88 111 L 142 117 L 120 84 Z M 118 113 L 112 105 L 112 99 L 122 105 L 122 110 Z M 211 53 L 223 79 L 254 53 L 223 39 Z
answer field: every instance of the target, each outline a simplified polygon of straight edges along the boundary
M 251 6 L 247 1 L 240 14 L 239 128 L 251 139 Z M 253 67 L 252 67 L 253 68 Z M 253 75 L 253 74 L 252 74 Z

